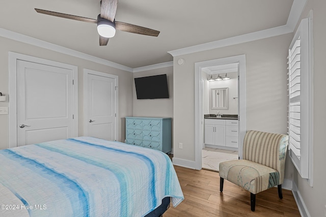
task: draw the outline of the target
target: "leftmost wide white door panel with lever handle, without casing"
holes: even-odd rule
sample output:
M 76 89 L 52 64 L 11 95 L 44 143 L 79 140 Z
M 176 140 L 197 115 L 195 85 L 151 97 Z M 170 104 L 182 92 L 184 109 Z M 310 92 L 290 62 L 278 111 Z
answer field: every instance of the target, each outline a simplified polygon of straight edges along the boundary
M 17 146 L 73 137 L 73 72 L 17 60 Z

